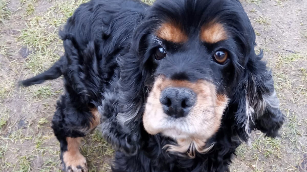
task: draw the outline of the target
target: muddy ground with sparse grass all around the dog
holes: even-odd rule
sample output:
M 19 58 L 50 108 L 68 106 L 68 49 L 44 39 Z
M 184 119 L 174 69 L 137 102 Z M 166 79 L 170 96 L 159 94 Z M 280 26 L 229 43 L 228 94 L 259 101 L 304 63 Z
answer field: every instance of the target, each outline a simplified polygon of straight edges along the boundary
M 147 0 L 150 2 L 152 0 Z M 61 79 L 29 88 L 17 81 L 48 69 L 63 53 L 58 28 L 86 0 L 0 0 L 0 170 L 59 170 L 59 143 L 50 128 Z M 307 1 L 242 0 L 258 46 L 274 72 L 288 119 L 281 137 L 253 133 L 232 171 L 307 171 Z M 113 150 L 94 131 L 82 152 L 92 172 L 107 171 Z

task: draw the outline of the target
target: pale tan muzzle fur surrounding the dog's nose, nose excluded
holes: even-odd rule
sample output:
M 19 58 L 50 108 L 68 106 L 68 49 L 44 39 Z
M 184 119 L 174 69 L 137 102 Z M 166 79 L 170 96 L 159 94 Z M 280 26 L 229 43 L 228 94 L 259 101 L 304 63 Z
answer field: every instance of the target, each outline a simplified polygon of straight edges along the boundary
M 159 102 L 162 90 L 167 87 L 185 87 L 196 95 L 196 104 L 185 117 L 172 118 L 163 112 Z M 143 124 L 149 134 L 162 133 L 177 140 L 177 145 L 165 145 L 169 151 L 187 152 L 194 155 L 194 150 L 205 152 L 212 145 L 205 145 L 221 124 L 223 111 L 228 103 L 226 95 L 217 95 L 215 86 L 204 80 L 191 83 L 182 80 L 169 80 L 158 77 L 147 99 Z

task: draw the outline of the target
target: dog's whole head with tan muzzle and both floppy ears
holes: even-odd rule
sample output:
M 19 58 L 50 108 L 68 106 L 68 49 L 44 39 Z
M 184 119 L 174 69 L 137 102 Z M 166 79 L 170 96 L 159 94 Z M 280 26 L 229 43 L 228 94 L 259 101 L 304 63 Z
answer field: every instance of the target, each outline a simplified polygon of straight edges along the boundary
M 271 74 L 254 46 L 254 30 L 237 0 L 158 0 L 135 29 L 137 58 L 122 59 L 130 116 L 119 120 L 142 120 L 147 133 L 174 139 L 177 144 L 167 146 L 176 152 L 208 150 L 206 141 L 229 107 L 243 140 L 275 116 L 282 121 Z M 263 114 L 269 117 L 262 120 Z M 275 136 L 279 127 L 262 131 Z

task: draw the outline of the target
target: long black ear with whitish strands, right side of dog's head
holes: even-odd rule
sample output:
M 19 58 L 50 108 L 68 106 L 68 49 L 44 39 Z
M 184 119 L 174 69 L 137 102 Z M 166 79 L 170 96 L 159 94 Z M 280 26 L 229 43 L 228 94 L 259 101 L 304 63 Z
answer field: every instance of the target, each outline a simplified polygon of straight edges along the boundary
M 239 1 L 236 3 L 243 8 Z M 228 24 L 240 50 L 240 57 L 234 63 L 237 67 L 229 103 L 235 113 L 237 133 L 244 141 L 249 140 L 254 129 L 275 137 L 285 116 L 279 109 L 272 73 L 262 61 L 262 51 L 255 53 L 256 36 L 247 14 L 240 13 L 236 21 Z

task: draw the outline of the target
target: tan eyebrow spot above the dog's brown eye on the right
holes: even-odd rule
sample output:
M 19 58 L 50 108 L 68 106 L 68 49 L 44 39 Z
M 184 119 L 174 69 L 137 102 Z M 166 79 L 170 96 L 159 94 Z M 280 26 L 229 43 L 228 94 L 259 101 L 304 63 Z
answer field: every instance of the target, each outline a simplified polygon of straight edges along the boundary
M 217 43 L 227 39 L 227 32 L 220 23 L 210 22 L 200 29 L 200 40 L 206 43 Z

